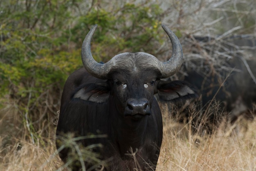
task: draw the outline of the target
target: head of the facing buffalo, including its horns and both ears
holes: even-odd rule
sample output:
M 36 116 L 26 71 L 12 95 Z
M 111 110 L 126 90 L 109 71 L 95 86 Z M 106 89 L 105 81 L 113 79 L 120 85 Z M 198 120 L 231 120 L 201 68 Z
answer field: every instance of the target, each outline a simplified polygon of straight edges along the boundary
M 178 38 L 168 27 L 162 27 L 173 47 L 173 55 L 167 62 L 161 62 L 151 54 L 138 52 L 121 53 L 102 64 L 94 60 L 90 50 L 92 36 L 97 29 L 97 25 L 94 25 L 83 41 L 83 66 L 92 76 L 106 82 L 97 84 L 97 89 L 85 87 L 74 98 L 92 102 L 105 102 L 112 98 L 118 113 L 125 118 L 139 120 L 151 114 L 155 93 L 161 100 L 168 101 L 195 96 L 193 89 L 185 82 L 160 80 L 180 69 L 183 55 Z

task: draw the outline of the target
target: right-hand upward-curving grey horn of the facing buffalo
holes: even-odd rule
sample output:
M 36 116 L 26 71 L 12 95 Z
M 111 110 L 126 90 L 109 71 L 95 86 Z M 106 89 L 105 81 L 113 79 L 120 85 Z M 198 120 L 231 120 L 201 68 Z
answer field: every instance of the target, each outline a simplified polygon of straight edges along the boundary
M 162 67 L 160 69 L 162 78 L 167 78 L 175 74 L 180 69 L 183 53 L 180 41 L 175 34 L 167 26 L 162 24 L 162 27 L 170 38 L 173 47 L 173 54 L 171 58 L 167 62 L 162 62 Z

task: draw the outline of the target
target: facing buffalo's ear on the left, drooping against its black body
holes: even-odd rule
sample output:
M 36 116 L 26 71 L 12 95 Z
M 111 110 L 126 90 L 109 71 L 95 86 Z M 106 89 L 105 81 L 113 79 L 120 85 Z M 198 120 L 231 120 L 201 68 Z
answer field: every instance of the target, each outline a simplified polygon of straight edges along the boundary
M 85 101 L 102 103 L 109 98 L 110 91 L 107 83 L 90 83 L 86 84 L 74 94 L 73 98 L 78 98 Z

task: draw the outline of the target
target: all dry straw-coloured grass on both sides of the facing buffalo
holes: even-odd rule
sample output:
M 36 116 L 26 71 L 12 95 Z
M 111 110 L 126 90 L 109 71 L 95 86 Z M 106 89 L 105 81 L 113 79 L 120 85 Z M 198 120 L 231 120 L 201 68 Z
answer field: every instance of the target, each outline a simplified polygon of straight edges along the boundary
M 230 134 L 231 127 L 223 122 L 212 135 L 198 137 L 192 135 L 189 124 L 174 122 L 167 110 L 163 116 L 164 138 L 157 171 L 256 170 L 256 120 L 246 121 L 247 131 L 236 135 Z M 63 170 L 54 139 L 42 145 L 16 137 L 9 137 L 7 143 L 6 138 L 0 134 L 1 171 Z

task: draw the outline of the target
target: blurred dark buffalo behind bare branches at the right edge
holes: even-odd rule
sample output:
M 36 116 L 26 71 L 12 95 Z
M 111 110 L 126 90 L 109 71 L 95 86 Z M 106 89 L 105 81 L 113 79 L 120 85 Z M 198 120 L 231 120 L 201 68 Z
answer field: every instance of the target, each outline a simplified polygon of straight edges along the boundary
M 184 46 L 201 56 L 182 66 L 184 80 L 200 91 L 200 109 L 207 109 L 216 100 L 232 123 L 243 114 L 252 118 L 250 110 L 256 102 L 255 36 L 195 36 L 184 41 Z M 220 118 L 216 113 L 211 117 Z

